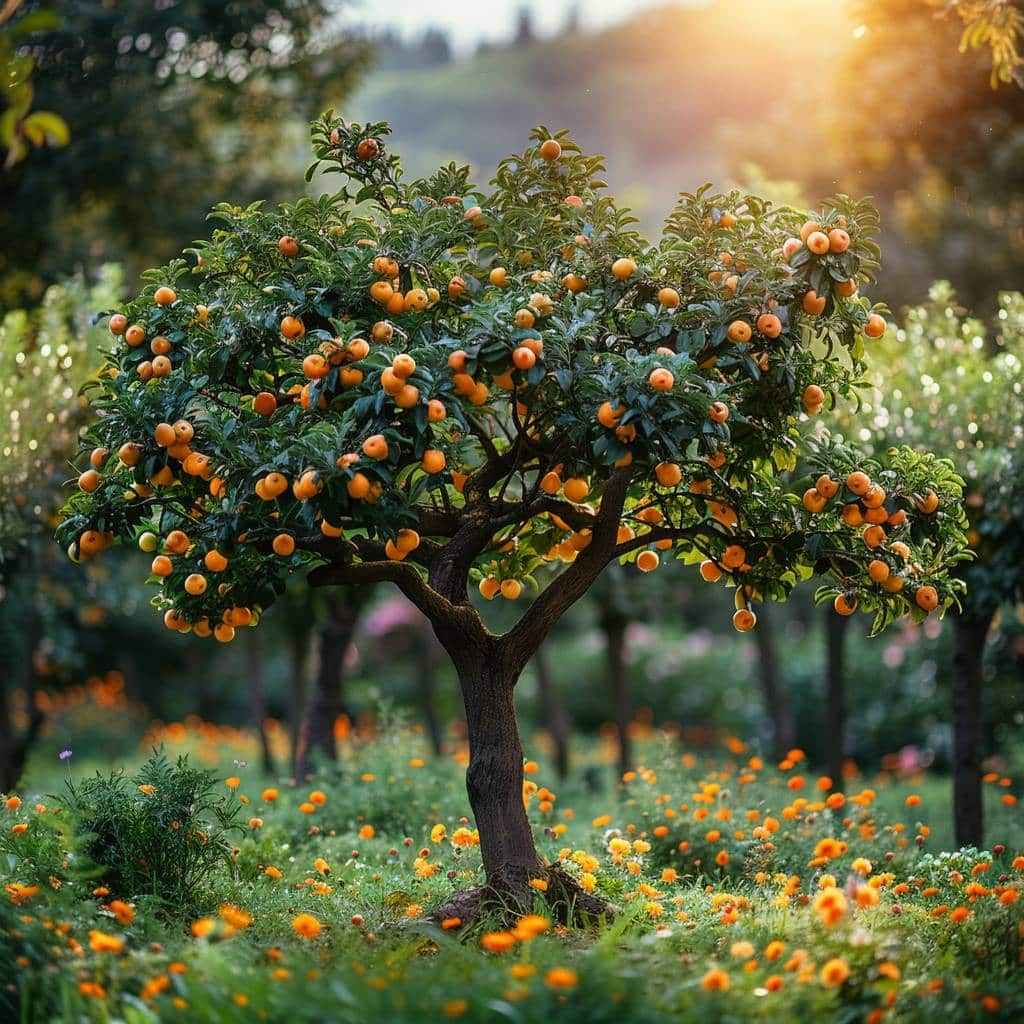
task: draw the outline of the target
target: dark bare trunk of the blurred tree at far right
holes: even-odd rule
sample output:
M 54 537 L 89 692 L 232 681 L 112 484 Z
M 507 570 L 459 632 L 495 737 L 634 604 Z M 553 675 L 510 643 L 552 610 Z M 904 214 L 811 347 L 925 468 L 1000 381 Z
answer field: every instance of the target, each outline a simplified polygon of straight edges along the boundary
M 981 848 L 981 687 L 991 615 L 953 615 L 953 828 L 957 846 Z

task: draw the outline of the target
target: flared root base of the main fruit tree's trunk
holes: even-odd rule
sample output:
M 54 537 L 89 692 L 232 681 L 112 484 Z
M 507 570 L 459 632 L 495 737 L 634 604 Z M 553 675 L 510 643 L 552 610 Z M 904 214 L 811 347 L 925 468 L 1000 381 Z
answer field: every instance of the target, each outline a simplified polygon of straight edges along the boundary
M 539 890 L 531 880 L 547 883 Z M 529 870 L 507 866 L 495 871 L 482 886 L 473 886 L 453 893 L 429 914 L 435 924 L 458 919 L 459 927 L 472 924 L 477 918 L 494 915 L 514 922 L 529 913 L 538 899 L 544 900 L 552 918 L 561 925 L 591 927 L 611 921 L 617 908 L 600 896 L 587 892 L 560 864 Z

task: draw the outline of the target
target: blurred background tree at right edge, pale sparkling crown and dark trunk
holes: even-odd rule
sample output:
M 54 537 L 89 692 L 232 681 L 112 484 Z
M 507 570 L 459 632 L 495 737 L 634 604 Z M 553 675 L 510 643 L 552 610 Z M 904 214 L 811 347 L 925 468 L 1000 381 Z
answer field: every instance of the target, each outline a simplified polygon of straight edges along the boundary
M 963 609 L 952 618 L 953 810 L 956 843 L 981 846 L 982 756 L 988 729 L 983 660 L 1000 607 L 1024 600 L 1024 297 L 999 297 L 992 327 L 936 285 L 879 345 L 874 390 L 848 427 L 877 450 L 939 438 L 967 483 L 974 560 L 961 566 Z

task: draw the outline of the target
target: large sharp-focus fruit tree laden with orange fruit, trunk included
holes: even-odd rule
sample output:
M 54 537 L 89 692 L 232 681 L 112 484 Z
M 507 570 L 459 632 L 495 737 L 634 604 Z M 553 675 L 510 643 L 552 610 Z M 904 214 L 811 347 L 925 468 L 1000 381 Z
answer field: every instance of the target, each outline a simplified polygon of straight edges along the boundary
M 651 246 L 564 133 L 537 129 L 489 189 L 454 165 L 406 181 L 387 135 L 326 115 L 310 174 L 342 174 L 337 193 L 218 207 L 190 265 L 111 316 L 58 539 L 82 558 L 138 544 L 166 625 L 221 642 L 289 573 L 396 585 L 464 698 L 487 887 L 458 915 L 531 881 L 597 910 L 541 860 L 522 799 L 513 691 L 562 613 L 614 560 L 699 562 L 740 630 L 814 574 L 879 628 L 942 611 L 962 482 L 932 455 L 833 443 L 810 479 L 786 471 L 799 421 L 853 392 L 885 330 L 859 292 L 870 203 L 806 217 L 703 187 Z M 470 600 L 524 588 L 501 635 Z

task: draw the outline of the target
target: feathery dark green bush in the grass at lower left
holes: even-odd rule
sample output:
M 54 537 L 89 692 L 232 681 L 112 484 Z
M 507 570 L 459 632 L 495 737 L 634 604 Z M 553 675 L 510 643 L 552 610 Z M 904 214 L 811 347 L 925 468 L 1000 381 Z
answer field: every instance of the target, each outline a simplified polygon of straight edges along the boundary
M 214 773 L 155 752 L 130 778 L 96 773 L 67 783 L 82 851 L 125 896 L 155 896 L 176 912 L 201 908 L 209 872 L 230 862 L 241 805 L 217 796 Z

